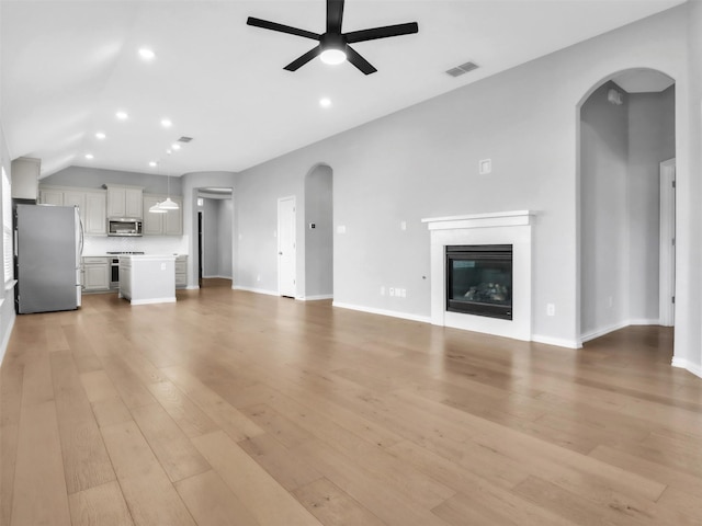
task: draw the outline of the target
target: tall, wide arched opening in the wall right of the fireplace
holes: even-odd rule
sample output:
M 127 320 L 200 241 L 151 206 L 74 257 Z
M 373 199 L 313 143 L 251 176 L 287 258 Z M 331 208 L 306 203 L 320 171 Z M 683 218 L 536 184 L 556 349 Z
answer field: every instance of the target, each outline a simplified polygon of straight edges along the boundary
M 599 82 L 579 106 L 582 342 L 661 324 L 660 176 L 676 156 L 675 104 L 671 78 L 635 69 Z

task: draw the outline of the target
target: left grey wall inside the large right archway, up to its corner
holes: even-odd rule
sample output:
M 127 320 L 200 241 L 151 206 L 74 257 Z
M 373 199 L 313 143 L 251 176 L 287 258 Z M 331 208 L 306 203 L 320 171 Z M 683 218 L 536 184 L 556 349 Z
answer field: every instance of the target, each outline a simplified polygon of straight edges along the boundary
M 580 110 L 581 331 L 626 324 L 629 315 L 629 98 L 608 102 L 612 82 Z M 621 91 L 621 90 L 620 90 Z

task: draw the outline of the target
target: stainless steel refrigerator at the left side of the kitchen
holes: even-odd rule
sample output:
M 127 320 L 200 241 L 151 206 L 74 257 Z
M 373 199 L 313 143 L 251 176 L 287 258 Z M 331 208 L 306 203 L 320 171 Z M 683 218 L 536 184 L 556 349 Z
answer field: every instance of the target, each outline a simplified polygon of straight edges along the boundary
M 75 206 L 16 205 L 18 312 L 80 307 L 82 228 Z

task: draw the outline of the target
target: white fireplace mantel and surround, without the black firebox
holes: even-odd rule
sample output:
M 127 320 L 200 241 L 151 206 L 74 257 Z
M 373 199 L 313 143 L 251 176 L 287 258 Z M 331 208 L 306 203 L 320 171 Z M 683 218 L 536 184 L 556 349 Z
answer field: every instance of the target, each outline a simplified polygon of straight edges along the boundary
M 533 211 L 512 210 L 422 219 L 431 242 L 431 322 L 517 340 L 531 340 L 531 227 Z M 450 312 L 445 295 L 445 248 L 512 245 L 512 319 Z

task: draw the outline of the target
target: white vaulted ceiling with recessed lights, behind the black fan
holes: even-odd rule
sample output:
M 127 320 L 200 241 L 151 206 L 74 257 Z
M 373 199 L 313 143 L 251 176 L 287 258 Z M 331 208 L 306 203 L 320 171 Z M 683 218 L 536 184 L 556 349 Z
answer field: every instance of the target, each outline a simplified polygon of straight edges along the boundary
M 322 33 L 324 0 L 1 0 L 2 124 L 11 157 L 42 159 L 42 176 L 156 171 L 151 160 L 171 175 L 240 171 L 679 3 L 348 0 L 344 32 L 419 23 L 416 35 L 353 45 L 378 69 L 366 77 L 318 58 L 285 71 L 315 43 L 246 25 L 251 15 Z M 155 60 L 138 57 L 143 46 Z M 468 60 L 480 68 L 445 73 Z M 193 141 L 167 155 L 181 136 Z

